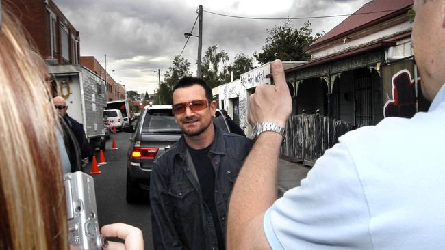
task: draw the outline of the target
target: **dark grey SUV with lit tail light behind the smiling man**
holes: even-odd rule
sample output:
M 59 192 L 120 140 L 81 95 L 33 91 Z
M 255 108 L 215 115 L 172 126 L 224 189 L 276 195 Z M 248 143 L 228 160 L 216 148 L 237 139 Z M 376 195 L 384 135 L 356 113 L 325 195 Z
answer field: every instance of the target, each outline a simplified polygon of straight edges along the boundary
M 216 112 L 214 124 L 229 132 L 229 126 L 220 111 Z M 171 148 L 181 135 L 182 132 L 175 122 L 171 105 L 147 106 L 141 111 L 127 152 L 126 197 L 128 203 L 138 202 L 144 193 L 142 190 L 149 190 L 153 162 Z

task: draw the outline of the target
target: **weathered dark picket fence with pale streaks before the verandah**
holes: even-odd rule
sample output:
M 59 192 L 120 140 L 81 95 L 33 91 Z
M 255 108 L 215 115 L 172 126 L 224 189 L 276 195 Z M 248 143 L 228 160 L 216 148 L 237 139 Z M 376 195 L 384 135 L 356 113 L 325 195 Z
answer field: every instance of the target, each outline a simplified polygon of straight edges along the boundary
M 353 129 L 353 124 L 319 114 L 293 115 L 286 124 L 286 137 L 281 156 L 304 165 L 316 159 L 338 142 L 338 137 Z

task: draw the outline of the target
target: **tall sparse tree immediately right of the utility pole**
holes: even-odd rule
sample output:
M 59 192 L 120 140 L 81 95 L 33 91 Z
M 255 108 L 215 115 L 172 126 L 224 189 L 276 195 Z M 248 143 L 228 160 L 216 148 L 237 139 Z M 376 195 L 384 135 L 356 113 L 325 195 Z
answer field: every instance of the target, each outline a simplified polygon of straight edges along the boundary
M 218 51 L 218 45 L 209 46 L 203 57 L 201 66 L 202 78 L 209 87 L 216 87 L 227 78 L 227 61 L 229 54 L 225 50 Z

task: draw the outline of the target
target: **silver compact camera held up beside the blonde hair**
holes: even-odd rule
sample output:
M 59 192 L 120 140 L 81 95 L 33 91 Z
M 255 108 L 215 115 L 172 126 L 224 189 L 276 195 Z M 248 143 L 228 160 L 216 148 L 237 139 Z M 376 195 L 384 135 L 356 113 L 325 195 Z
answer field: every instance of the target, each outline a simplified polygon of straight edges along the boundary
M 64 175 L 70 244 L 79 250 L 107 247 L 99 231 L 94 180 L 81 171 Z

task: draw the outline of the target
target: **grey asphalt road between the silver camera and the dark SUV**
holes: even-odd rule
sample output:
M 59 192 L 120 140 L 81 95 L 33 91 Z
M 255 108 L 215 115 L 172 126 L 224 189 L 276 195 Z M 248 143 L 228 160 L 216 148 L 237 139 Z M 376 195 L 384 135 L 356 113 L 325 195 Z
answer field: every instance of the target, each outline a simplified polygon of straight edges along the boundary
M 107 141 L 104 152 L 107 164 L 99 167 L 102 173 L 92 175 L 96 191 L 99 226 L 121 222 L 139 227 L 144 234 L 144 249 L 153 249 L 148 194 L 142 204 L 127 204 L 125 200 L 127 150 L 130 145 L 131 133 L 118 132 L 116 135 L 112 134 L 111 137 Z M 117 150 L 111 149 L 113 138 L 116 140 Z M 96 158 L 99 161 L 99 151 L 96 152 Z M 90 173 L 90 171 L 91 163 L 86 167 L 86 173 Z

